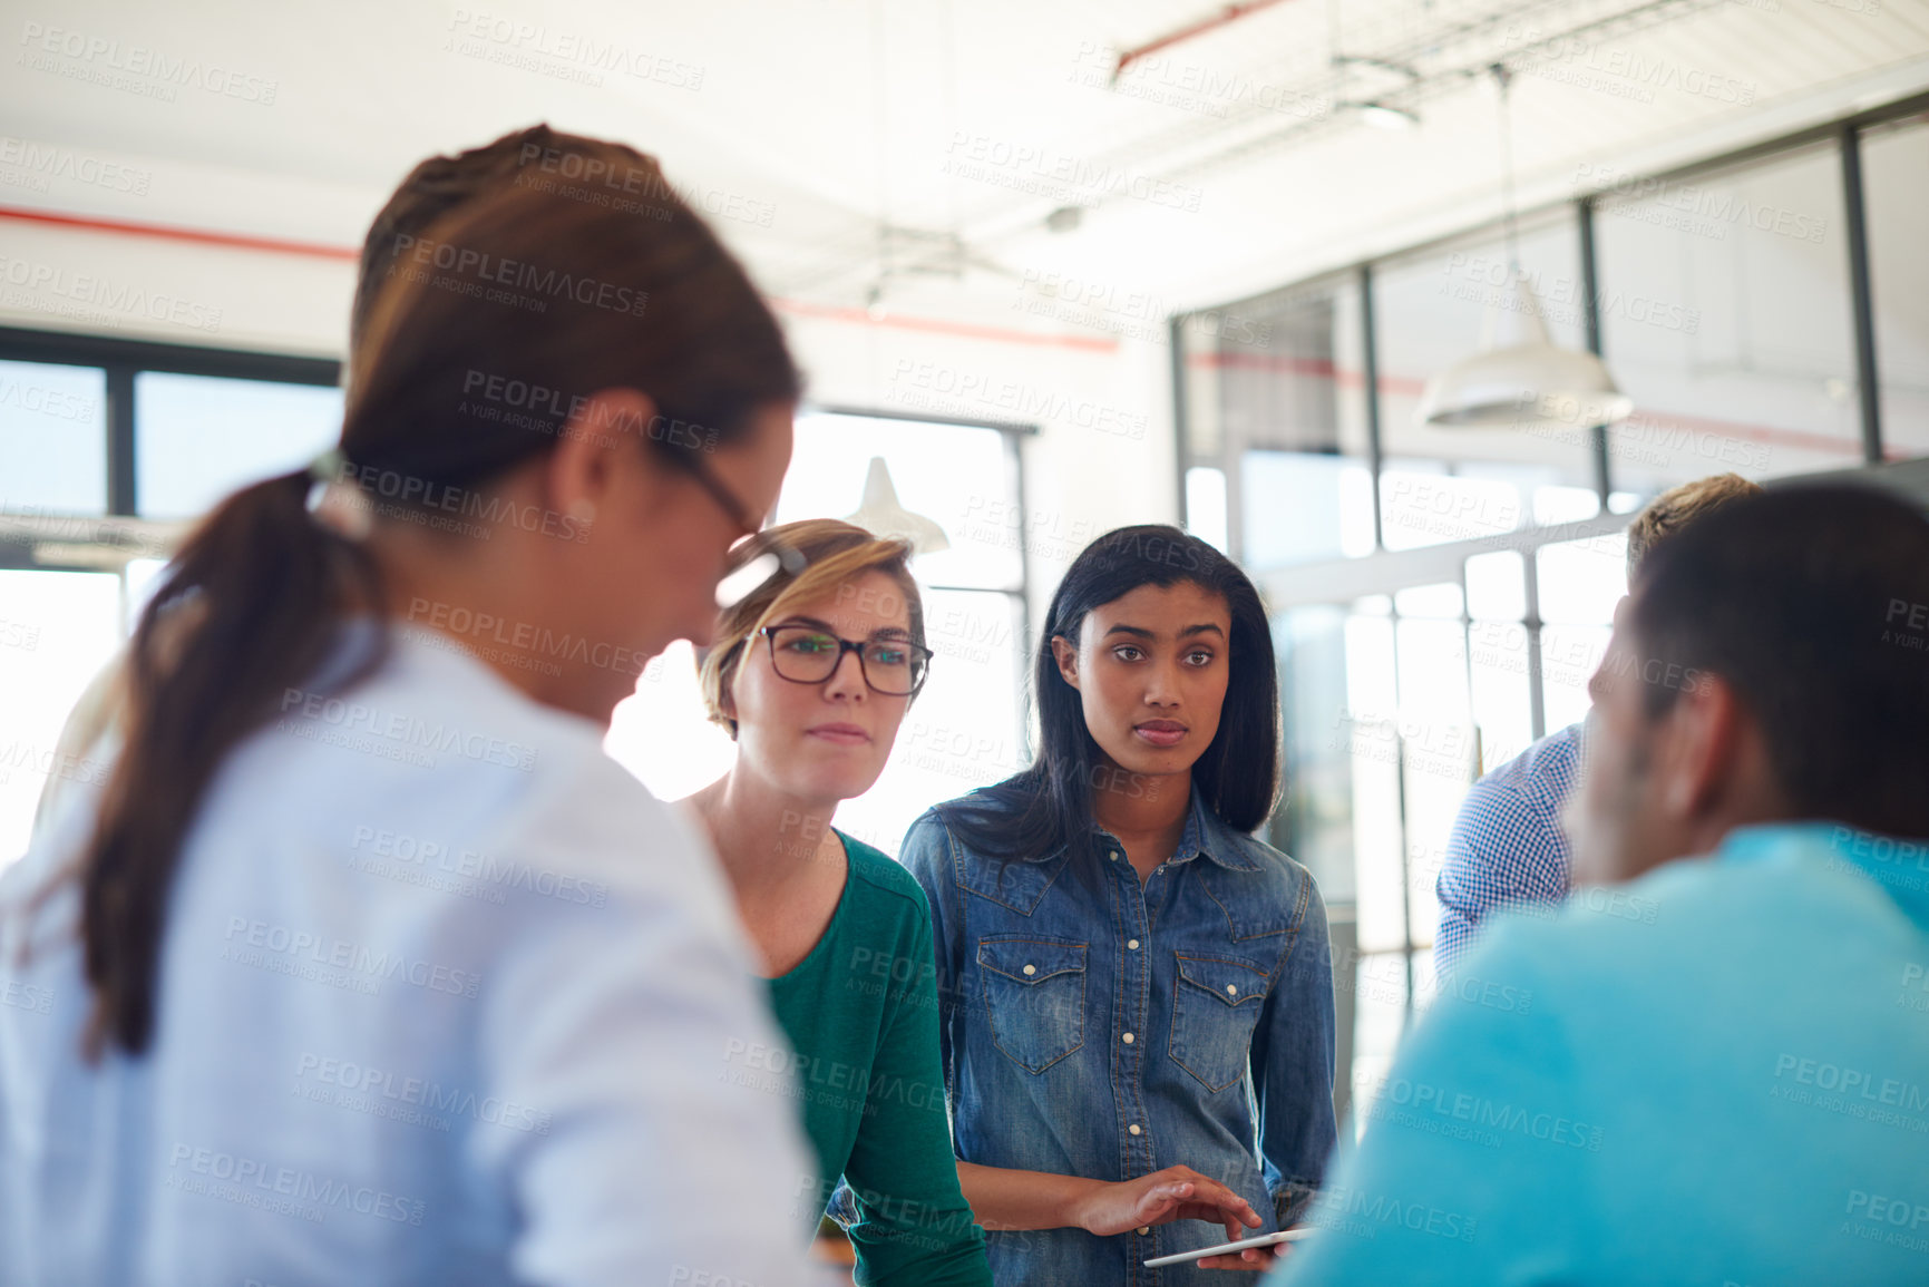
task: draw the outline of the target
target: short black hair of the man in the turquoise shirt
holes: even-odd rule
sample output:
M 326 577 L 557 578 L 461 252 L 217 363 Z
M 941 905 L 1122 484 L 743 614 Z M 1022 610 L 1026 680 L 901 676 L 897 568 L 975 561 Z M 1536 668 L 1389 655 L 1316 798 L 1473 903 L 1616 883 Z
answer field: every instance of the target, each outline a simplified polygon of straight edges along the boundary
M 1929 515 L 1848 484 L 1748 496 L 1655 548 L 1628 608 L 1649 718 L 1721 675 L 1796 816 L 1929 835 Z

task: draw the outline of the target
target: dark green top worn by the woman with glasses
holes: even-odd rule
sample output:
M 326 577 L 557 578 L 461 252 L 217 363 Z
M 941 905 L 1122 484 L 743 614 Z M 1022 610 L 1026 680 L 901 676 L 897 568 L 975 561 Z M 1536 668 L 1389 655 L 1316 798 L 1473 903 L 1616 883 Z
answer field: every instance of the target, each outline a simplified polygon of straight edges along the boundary
M 851 874 L 829 928 L 770 980 L 824 1191 L 845 1177 L 839 1214 L 864 1287 L 992 1287 L 951 1152 L 924 890 L 870 845 L 837 837 Z

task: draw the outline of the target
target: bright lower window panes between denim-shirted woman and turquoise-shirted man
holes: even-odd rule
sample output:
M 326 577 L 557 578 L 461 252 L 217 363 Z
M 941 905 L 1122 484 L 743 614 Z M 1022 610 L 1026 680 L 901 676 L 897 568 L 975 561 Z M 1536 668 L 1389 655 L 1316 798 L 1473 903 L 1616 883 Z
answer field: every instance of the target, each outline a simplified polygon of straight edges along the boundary
M 1385 589 L 1352 598 L 1345 563 L 1260 575 L 1283 608 L 1287 795 L 1267 835 L 1312 868 L 1345 944 L 1356 1082 L 1431 1001 L 1433 886 L 1466 789 L 1588 710 L 1624 592 L 1620 521 L 1389 552 Z

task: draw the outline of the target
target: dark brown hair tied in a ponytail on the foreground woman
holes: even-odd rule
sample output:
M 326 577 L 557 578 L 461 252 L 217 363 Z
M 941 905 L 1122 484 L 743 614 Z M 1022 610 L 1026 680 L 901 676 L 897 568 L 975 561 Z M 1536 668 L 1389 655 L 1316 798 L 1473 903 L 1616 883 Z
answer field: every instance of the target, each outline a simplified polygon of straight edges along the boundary
M 332 486 L 496 479 L 550 452 L 571 415 L 611 388 L 642 390 L 660 415 L 598 428 L 635 434 L 658 457 L 729 446 L 758 407 L 797 399 L 775 316 L 654 160 L 538 127 L 419 168 L 411 183 L 449 166 L 478 176 L 473 197 L 451 206 L 440 187 L 413 203 L 397 193 L 370 235 Z M 602 189 L 552 170 L 617 174 L 648 205 L 613 208 Z M 403 232 L 417 208 L 424 224 Z M 523 392 L 509 397 L 515 415 L 490 401 L 496 388 Z M 299 471 L 230 496 L 141 614 L 123 751 L 79 857 L 91 1057 L 152 1040 L 168 895 L 222 760 L 272 720 L 285 689 L 314 683 L 343 617 L 388 616 L 374 552 L 309 511 L 311 486 Z M 380 666 L 380 643 L 355 662 L 330 687 Z

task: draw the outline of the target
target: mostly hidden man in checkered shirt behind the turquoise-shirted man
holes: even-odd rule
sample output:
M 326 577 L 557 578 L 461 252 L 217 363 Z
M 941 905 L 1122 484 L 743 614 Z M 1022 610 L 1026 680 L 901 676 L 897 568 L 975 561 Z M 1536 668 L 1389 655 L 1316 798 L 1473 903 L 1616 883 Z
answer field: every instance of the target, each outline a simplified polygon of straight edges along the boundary
M 1703 513 L 1761 488 L 1725 473 L 1684 482 L 1651 500 L 1628 525 L 1628 585 L 1642 561 L 1671 533 Z M 1626 600 L 1622 600 L 1626 602 Z M 1615 610 L 1617 617 L 1620 610 Z M 1447 861 L 1433 893 L 1441 905 L 1433 936 L 1435 974 L 1447 976 L 1495 907 L 1551 905 L 1568 891 L 1568 837 L 1561 810 L 1580 780 L 1586 722 L 1539 739 L 1474 783 L 1460 803 Z

